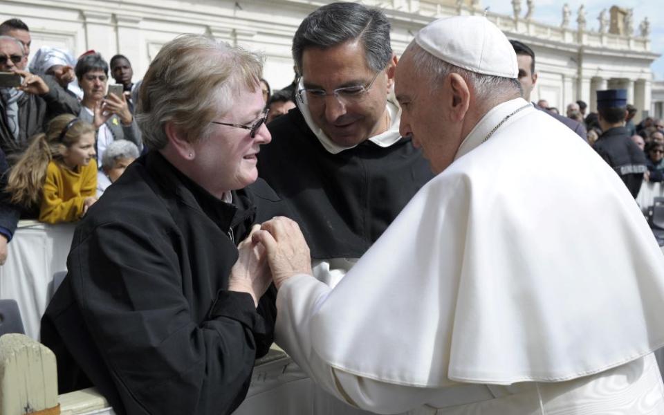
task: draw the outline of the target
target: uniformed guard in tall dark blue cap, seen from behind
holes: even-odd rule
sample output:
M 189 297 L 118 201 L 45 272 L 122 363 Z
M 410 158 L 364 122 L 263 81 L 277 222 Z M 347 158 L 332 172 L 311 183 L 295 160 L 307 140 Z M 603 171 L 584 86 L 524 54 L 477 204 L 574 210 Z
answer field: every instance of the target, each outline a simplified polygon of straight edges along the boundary
M 629 130 L 625 128 L 626 107 L 626 89 L 597 91 L 597 111 L 604 132 L 593 148 L 613 167 L 636 198 L 647 167 L 645 154 L 631 140 Z

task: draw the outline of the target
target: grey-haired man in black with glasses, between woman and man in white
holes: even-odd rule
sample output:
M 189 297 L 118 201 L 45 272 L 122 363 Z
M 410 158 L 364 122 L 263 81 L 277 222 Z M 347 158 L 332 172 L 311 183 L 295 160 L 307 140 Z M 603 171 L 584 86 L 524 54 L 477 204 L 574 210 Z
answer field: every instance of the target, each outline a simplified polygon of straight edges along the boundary
M 334 285 L 387 228 L 430 169 L 391 89 L 389 21 L 358 3 L 331 3 L 293 37 L 297 109 L 270 123 L 259 174 L 302 225 L 314 272 Z

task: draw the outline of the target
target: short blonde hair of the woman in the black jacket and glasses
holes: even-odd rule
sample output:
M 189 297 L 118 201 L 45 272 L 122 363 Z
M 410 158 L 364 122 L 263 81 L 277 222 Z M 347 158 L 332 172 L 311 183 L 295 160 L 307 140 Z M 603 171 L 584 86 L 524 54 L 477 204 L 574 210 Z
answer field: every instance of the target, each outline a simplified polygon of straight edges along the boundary
M 232 109 L 243 88 L 256 91 L 262 58 L 202 35 L 181 35 L 165 44 L 140 86 L 136 122 L 148 149 L 168 142 L 165 124 L 187 131 L 187 140 L 208 138 L 210 121 Z

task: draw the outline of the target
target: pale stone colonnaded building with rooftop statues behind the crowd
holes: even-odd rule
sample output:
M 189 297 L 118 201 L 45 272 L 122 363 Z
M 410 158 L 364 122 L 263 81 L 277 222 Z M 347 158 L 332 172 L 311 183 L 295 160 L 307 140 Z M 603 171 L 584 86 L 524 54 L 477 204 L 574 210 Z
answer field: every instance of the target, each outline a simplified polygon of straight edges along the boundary
M 504 0 L 509 1 L 509 0 Z M 18 17 L 28 24 L 33 50 L 60 46 L 77 56 L 95 49 L 110 58 L 122 53 L 140 79 L 159 48 L 180 33 L 205 33 L 264 53 L 265 77 L 273 89 L 293 80 L 291 39 L 304 16 L 328 1 L 310 0 L 0 0 L 0 21 Z M 392 22 L 397 54 L 425 24 L 451 15 L 483 15 L 480 0 L 365 0 L 382 8 Z M 513 15 L 487 12 L 508 37 L 535 50 L 540 78 L 533 100 L 563 109 L 581 99 L 596 108 L 595 91 L 626 88 L 640 110 L 662 111 L 664 91 L 653 102 L 649 25 L 636 25 L 630 9 L 611 7 L 591 28 L 583 6 L 560 10 L 560 25 L 531 19 L 534 0 L 512 0 Z M 593 19 L 594 20 L 594 19 Z M 592 26 L 597 26 L 593 24 Z M 659 89 L 657 90 L 659 91 Z M 640 120 L 643 112 L 637 116 Z

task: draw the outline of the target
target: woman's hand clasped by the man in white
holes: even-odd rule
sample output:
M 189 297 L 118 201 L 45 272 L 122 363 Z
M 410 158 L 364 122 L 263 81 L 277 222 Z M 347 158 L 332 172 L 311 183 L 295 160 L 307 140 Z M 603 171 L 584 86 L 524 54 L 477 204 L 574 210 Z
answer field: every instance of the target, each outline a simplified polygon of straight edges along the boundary
M 239 255 L 228 280 L 229 291 L 250 294 L 255 306 L 272 283 L 265 248 L 252 241 L 252 235 L 260 228 L 261 225 L 254 225 L 249 236 L 237 246 Z

